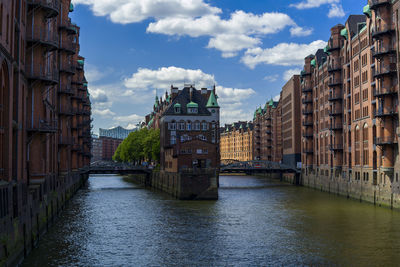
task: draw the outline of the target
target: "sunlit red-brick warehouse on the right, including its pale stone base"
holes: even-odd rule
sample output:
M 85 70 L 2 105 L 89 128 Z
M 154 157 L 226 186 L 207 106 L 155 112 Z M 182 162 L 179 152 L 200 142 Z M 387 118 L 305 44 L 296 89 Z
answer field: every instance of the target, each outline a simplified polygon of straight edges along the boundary
M 305 58 L 303 183 L 400 207 L 399 1 L 370 0 Z

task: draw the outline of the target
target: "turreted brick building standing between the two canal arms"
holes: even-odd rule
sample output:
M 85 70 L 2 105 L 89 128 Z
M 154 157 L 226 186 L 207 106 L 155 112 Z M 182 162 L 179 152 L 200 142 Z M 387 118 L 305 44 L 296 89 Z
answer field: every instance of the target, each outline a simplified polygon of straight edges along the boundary
M 171 86 L 146 116 L 148 127 L 160 129 L 161 169 L 178 172 L 219 167 L 219 106 L 215 87 L 182 90 Z

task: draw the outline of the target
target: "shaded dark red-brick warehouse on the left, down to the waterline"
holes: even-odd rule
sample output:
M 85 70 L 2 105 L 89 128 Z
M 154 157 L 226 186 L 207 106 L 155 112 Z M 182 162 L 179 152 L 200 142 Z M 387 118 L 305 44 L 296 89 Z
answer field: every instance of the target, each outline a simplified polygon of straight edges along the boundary
M 30 251 L 86 178 L 91 104 L 71 11 L 0 1 L 0 265 Z

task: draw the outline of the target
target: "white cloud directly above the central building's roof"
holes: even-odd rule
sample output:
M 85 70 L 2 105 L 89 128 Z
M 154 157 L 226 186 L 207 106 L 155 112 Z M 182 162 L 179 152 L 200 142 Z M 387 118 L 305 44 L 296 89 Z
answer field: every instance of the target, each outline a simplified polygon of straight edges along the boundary
M 174 66 L 162 67 L 156 70 L 139 68 L 130 78 L 125 79 L 124 85 L 128 93 L 148 89 L 168 90 L 171 85 L 195 83 L 196 87 L 210 87 L 215 83 L 213 75 L 202 70 L 183 69 Z M 130 92 L 129 92 L 130 91 Z

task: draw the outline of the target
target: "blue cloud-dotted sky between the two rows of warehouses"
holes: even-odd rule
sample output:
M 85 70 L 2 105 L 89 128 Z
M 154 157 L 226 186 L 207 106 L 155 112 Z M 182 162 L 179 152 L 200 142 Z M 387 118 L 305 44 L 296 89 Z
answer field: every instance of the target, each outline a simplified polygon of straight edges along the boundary
M 94 132 L 133 127 L 171 84 L 217 85 L 221 122 L 250 120 L 366 0 L 73 0 Z

